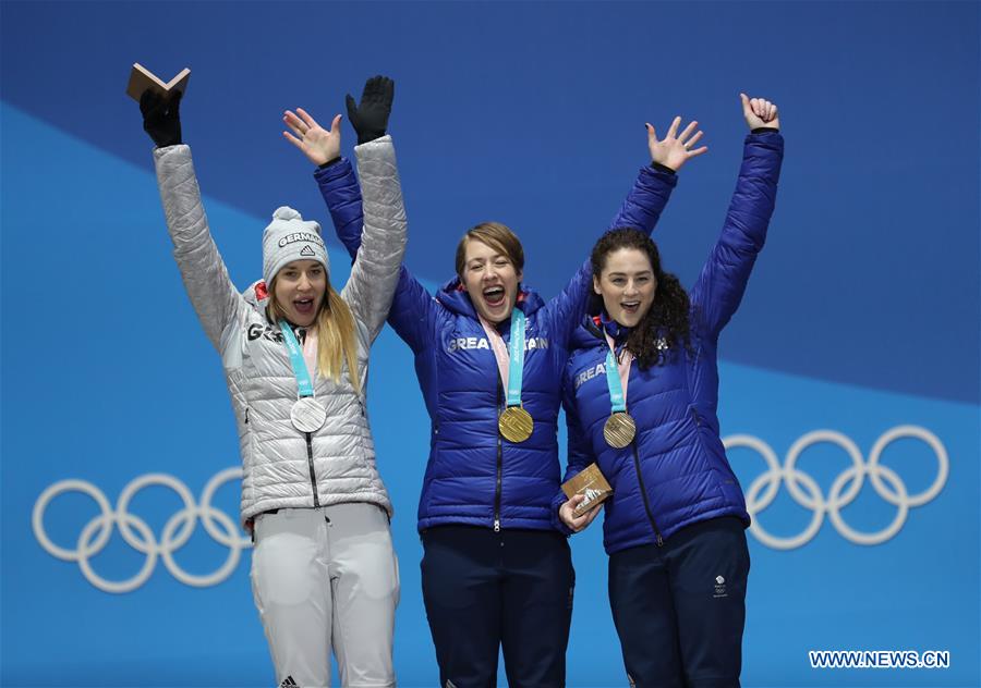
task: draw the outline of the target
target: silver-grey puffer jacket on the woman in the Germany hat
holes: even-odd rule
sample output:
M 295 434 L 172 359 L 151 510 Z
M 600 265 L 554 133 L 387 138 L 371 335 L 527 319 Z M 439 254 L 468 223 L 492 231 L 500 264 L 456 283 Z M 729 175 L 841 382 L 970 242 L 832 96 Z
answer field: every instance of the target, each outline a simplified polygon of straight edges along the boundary
M 405 211 L 389 136 L 355 147 L 364 194 L 364 234 L 341 291 L 358 323 L 358 374 L 367 390 L 367 357 L 382 331 L 405 250 Z M 296 378 L 279 325 L 265 312 L 265 285 L 243 296 L 208 231 L 185 145 L 154 150 L 157 182 L 174 257 L 208 339 L 221 354 L 239 427 L 244 475 L 242 521 L 262 512 L 370 502 L 391 514 L 375 466 L 364 398 L 344 367 L 335 384 L 316 376 L 327 422 L 310 435 L 293 428 Z M 261 230 L 255 233 L 256 247 Z

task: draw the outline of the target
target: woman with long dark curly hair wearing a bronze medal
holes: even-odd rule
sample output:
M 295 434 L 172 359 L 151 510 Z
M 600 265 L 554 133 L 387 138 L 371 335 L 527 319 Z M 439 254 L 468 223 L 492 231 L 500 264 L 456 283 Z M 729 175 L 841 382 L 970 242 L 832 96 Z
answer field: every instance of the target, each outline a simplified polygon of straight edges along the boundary
M 609 601 L 637 686 L 739 685 L 750 518 L 719 438 L 716 348 L 763 248 L 784 151 L 776 106 L 741 98 L 742 168 L 690 295 L 646 234 L 607 233 L 592 254 L 602 306 L 564 376 L 566 480 L 595 462 L 613 488 Z M 598 512 L 577 516 L 583 499 L 553 502 L 569 532 Z

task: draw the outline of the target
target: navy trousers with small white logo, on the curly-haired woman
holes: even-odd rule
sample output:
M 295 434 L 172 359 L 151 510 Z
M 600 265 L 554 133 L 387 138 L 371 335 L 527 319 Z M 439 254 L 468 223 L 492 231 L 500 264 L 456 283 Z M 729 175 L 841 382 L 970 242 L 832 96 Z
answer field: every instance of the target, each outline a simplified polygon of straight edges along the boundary
M 739 686 L 746 531 L 738 518 L 682 528 L 609 557 L 609 604 L 631 685 Z

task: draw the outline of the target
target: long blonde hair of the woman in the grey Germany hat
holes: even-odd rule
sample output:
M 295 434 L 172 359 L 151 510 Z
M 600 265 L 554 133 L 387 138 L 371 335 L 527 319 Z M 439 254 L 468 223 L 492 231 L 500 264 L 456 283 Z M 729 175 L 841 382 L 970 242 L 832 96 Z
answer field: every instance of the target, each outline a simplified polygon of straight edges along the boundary
M 269 283 L 269 318 L 276 322 L 286 320 L 282 307 L 276 302 L 276 278 Z M 348 376 L 354 392 L 361 394 L 358 376 L 358 340 L 354 336 L 354 316 L 340 294 L 327 284 L 327 292 L 317 314 L 317 371 L 340 384 L 341 371 L 348 364 Z

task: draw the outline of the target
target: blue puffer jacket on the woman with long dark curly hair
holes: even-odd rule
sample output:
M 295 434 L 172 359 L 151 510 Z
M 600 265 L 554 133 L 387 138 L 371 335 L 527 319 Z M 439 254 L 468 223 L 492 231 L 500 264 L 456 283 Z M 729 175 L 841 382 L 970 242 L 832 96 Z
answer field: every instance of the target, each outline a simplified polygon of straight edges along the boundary
M 596 462 L 609 481 L 614 494 L 605 502 L 603 524 L 608 554 L 659 544 L 708 518 L 738 516 L 749 526 L 742 490 L 719 438 L 716 345 L 763 248 L 783 155 L 779 133 L 747 137 L 722 236 L 690 292 L 693 353 L 681 347 L 663 366 L 630 367 L 627 410 L 637 422 L 637 438 L 626 449 L 609 446 L 603 437 L 610 415 L 604 330 L 615 328 L 588 316 L 573 334 L 562 381 L 569 429 L 565 479 Z M 626 341 L 626 332 L 619 334 L 617 353 Z M 565 501 L 558 492 L 556 513 Z

